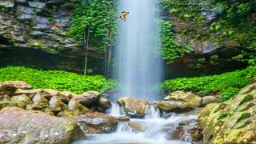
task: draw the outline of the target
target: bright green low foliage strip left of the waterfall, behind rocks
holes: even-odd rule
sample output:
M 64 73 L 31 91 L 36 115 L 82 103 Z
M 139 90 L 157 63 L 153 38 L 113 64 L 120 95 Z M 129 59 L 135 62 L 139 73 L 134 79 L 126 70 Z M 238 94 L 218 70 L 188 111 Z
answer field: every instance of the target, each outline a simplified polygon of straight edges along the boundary
M 87 76 L 62 70 L 37 70 L 23 66 L 7 66 L 0 68 L 0 82 L 24 81 L 33 88 L 68 90 L 76 94 L 88 90 L 104 91 L 115 87 L 113 80 L 101 75 Z

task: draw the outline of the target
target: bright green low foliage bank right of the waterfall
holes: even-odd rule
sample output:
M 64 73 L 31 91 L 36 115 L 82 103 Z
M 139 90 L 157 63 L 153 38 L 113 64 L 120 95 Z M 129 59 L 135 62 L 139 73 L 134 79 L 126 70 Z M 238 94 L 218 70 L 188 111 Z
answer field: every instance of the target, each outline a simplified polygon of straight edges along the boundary
M 187 90 L 197 94 L 219 93 L 223 101 L 237 94 L 256 76 L 256 66 L 220 75 L 199 78 L 177 78 L 162 83 L 162 90 Z

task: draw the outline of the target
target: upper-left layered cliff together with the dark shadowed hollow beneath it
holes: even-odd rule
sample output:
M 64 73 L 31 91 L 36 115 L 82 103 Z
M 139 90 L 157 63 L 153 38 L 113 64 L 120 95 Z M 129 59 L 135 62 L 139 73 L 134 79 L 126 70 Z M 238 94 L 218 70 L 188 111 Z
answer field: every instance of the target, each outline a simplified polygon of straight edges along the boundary
M 63 0 L 1 0 L 0 65 L 35 66 L 46 69 L 84 69 L 82 42 L 66 31 L 72 8 Z M 104 54 L 89 49 L 89 73 L 102 74 Z

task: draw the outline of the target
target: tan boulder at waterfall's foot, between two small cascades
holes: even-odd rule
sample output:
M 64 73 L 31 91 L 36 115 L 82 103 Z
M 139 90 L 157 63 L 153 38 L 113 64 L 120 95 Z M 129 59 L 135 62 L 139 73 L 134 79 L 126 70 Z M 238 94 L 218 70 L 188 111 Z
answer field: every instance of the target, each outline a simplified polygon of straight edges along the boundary
M 118 99 L 126 115 L 131 118 L 142 118 L 148 113 L 150 102 L 142 99 L 123 97 Z

